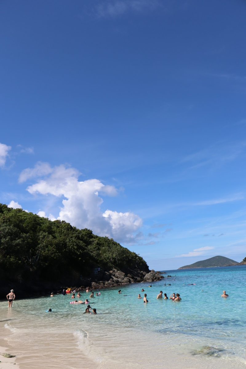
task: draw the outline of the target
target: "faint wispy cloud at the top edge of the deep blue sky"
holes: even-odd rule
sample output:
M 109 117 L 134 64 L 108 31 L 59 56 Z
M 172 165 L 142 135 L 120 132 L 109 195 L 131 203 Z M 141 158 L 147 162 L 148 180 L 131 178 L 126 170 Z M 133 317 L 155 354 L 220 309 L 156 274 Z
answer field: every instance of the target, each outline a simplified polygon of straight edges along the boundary
M 114 18 L 128 11 L 139 13 L 154 10 L 160 6 L 162 6 L 162 3 L 159 0 L 108 0 L 98 4 L 95 11 L 99 18 Z

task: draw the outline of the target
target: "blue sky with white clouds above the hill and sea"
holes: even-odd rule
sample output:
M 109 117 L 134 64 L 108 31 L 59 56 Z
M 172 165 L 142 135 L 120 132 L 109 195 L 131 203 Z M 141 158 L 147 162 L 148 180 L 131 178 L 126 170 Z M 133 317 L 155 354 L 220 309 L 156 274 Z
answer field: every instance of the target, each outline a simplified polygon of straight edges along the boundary
M 2 1 L 0 201 L 150 268 L 246 256 L 245 1 Z

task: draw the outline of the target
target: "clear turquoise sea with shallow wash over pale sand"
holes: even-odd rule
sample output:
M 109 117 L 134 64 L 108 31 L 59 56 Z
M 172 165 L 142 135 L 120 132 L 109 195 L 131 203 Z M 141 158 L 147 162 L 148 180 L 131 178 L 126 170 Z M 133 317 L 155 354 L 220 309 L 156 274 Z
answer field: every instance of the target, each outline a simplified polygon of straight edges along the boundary
M 102 290 L 89 299 L 97 315 L 83 314 L 85 306 L 71 305 L 69 295 L 16 300 L 11 311 L 1 302 L 1 337 L 20 355 L 23 369 L 34 363 L 36 368 L 145 369 L 174 362 L 190 369 L 246 368 L 246 266 L 167 274 L 172 277 L 164 275 L 151 288 L 139 283 L 119 287 L 121 294 L 119 288 Z M 156 300 L 160 290 L 168 297 L 178 292 L 182 301 Z M 228 299 L 221 298 L 223 290 Z M 147 305 L 138 293 L 147 293 Z M 83 292 L 82 300 L 88 295 Z M 50 307 L 52 313 L 45 313 Z M 200 353 L 202 346 L 218 351 Z

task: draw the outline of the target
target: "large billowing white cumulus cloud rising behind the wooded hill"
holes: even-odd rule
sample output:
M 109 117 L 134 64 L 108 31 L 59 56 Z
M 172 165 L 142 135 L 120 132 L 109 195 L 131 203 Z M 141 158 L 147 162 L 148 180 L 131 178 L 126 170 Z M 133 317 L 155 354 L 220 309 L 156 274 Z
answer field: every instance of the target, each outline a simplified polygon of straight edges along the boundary
M 131 212 L 118 213 L 117 211 L 101 210 L 103 199 L 100 195 L 115 196 L 117 189 L 114 186 L 104 185 L 98 179 L 79 181 L 79 172 L 64 165 L 51 168 L 48 163 L 37 163 L 33 169 L 25 169 L 21 174 L 21 182 L 34 175 L 46 175 L 37 183 L 27 187 L 31 194 L 51 194 L 61 197 L 62 207 L 58 220 L 65 220 L 77 228 L 89 228 L 95 234 L 113 237 L 119 242 L 132 242 L 138 235 L 136 231 L 142 226 L 142 219 Z M 40 170 L 41 168 L 41 170 Z M 45 168 L 45 170 L 44 170 Z M 23 174 L 24 173 L 24 174 Z M 44 211 L 39 216 L 46 217 Z M 54 220 L 52 214 L 49 215 Z

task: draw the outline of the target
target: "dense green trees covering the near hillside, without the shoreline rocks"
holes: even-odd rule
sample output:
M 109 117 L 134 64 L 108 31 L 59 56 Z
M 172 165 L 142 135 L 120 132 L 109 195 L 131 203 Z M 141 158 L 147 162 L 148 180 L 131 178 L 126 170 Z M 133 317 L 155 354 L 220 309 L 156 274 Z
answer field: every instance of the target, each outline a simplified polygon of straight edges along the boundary
M 1 280 L 72 282 L 98 267 L 148 271 L 141 256 L 112 238 L 0 204 Z

